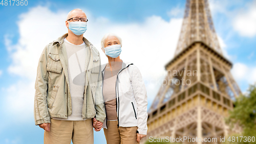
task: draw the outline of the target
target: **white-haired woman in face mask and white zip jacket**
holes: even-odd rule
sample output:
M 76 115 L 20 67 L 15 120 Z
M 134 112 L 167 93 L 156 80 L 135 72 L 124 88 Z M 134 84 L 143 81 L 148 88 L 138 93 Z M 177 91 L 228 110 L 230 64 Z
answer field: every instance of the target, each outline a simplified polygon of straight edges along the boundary
M 139 69 L 120 59 L 121 47 L 121 38 L 114 34 L 106 34 L 101 40 L 101 49 L 109 59 L 102 66 L 104 134 L 110 144 L 139 143 L 147 132 L 146 89 Z M 94 128 L 99 131 L 101 126 L 97 123 Z

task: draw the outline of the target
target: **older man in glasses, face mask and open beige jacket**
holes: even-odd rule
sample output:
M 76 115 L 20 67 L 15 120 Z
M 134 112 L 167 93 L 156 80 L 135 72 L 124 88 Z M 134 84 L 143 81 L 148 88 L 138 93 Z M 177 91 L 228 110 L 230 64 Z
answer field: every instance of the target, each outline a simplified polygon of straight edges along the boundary
M 40 56 L 34 118 L 45 130 L 44 143 L 93 143 L 92 119 L 94 125 L 105 119 L 99 52 L 83 37 L 87 21 L 82 10 L 69 12 L 68 34 L 48 44 Z

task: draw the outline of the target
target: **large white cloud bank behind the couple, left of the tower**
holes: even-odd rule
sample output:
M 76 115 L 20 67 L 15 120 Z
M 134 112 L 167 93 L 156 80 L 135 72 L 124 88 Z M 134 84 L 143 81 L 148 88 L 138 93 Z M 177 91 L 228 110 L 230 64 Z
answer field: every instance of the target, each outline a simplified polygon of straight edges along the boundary
M 46 44 L 67 33 L 67 13 L 52 12 L 47 7 L 32 8 L 21 14 L 17 22 L 20 34 L 17 44 L 13 45 L 10 36 L 6 35 L 6 46 L 12 59 L 8 71 L 28 79 L 28 82 L 19 81 L 9 88 L 7 109 L 14 114 L 21 116 L 23 113 L 20 111 L 23 110 L 33 113 L 34 82 L 39 56 Z M 86 13 L 90 21 L 84 36 L 100 51 L 102 64 L 108 60 L 100 49 L 100 40 L 106 33 L 116 33 L 123 40 L 121 59 L 139 67 L 148 90 L 148 99 L 152 101 L 159 88 L 157 81 L 165 74 L 164 65 L 174 56 L 182 18 L 165 21 L 160 16 L 151 16 L 141 23 L 123 24 Z

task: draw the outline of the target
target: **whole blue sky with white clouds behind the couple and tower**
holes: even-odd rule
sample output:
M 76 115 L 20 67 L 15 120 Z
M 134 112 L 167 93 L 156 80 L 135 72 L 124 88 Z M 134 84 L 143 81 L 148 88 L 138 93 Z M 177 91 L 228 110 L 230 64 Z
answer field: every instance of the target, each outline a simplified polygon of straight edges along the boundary
M 245 92 L 256 81 L 256 1 L 209 2 L 222 50 Z M 89 22 L 84 36 L 99 51 L 104 34 L 121 36 L 121 59 L 140 68 L 150 106 L 160 87 L 157 81 L 165 74 L 163 66 L 174 55 L 184 6 L 184 0 L 28 0 L 28 6 L 0 5 L 0 143 L 43 143 L 44 131 L 34 125 L 33 118 L 36 67 L 44 46 L 67 33 L 69 11 L 80 8 L 86 12 Z M 95 143 L 104 143 L 103 131 L 95 133 Z

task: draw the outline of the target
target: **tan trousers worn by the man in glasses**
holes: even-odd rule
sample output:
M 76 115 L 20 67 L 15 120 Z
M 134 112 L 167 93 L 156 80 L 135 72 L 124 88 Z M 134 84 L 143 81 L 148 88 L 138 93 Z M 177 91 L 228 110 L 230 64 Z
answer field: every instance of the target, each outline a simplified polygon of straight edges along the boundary
M 45 144 L 93 143 L 92 119 L 85 121 L 61 121 L 51 119 L 50 132 L 45 131 Z

